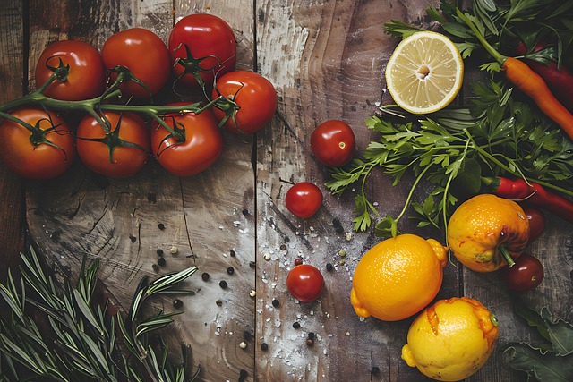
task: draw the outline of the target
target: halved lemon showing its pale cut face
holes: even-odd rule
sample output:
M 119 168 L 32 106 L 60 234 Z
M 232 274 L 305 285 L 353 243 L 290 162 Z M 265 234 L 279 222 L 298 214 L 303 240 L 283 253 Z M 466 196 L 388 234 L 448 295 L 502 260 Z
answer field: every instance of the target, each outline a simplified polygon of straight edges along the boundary
M 404 38 L 386 66 L 386 87 L 394 102 L 420 115 L 448 106 L 464 79 L 464 61 L 446 36 L 420 31 Z

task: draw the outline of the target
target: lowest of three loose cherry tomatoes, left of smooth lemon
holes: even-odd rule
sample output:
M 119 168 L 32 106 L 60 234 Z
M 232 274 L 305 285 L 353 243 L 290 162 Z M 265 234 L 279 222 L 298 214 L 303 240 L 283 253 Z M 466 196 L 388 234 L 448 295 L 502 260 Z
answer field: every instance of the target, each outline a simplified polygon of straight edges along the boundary
M 288 292 L 301 302 L 312 302 L 321 296 L 324 277 L 321 271 L 310 264 L 294 267 L 286 276 Z

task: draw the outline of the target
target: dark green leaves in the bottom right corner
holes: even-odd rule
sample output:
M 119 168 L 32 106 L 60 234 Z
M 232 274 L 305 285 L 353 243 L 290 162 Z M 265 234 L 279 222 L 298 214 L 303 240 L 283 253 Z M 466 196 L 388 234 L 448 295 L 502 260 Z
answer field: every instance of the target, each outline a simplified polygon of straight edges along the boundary
M 535 346 L 523 342 L 506 345 L 512 369 L 527 373 L 528 380 L 569 382 L 573 380 L 573 326 L 555 319 L 547 308 L 536 312 L 522 302 L 514 304 L 516 313 L 543 338 Z

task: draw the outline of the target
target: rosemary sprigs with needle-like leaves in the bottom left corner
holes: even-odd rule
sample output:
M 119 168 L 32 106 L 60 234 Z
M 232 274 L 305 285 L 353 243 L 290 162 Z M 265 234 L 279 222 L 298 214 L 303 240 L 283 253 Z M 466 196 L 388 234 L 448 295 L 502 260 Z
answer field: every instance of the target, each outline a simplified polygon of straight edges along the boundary
M 69 279 L 61 287 L 36 250 L 30 247 L 21 258 L 19 279 L 9 269 L 6 284 L 0 284 L 0 296 L 9 308 L 0 317 L 0 380 L 188 382 L 197 378 L 200 369 L 192 372 L 187 345 L 182 345 L 183 363 L 173 365 L 167 361 L 167 344 L 160 337 L 158 345 L 150 341 L 150 335 L 167 327 L 179 312 L 161 310 L 141 316 L 150 297 L 192 293 L 175 287 L 196 267 L 149 284 L 144 278 L 124 318 L 121 312 L 109 314 L 108 301 L 96 301 L 98 259 L 89 265 L 84 259 L 75 287 Z

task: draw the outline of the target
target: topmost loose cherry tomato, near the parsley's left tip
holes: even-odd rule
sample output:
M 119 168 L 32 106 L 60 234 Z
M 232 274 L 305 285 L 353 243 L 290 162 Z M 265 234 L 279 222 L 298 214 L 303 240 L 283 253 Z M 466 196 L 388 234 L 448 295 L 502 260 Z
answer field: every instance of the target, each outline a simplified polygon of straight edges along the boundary
M 354 156 L 355 147 L 355 133 L 344 121 L 330 120 L 321 123 L 311 135 L 312 154 L 322 165 L 346 165 Z

